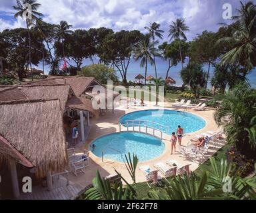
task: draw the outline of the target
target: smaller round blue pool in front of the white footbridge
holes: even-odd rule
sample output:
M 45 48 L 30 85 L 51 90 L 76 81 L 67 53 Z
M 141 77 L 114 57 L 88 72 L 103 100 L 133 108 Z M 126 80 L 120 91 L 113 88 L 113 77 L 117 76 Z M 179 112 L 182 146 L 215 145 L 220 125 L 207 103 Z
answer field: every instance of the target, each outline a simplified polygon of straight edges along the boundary
M 165 150 L 165 144 L 158 138 L 138 132 L 119 132 L 97 138 L 91 152 L 105 160 L 123 162 L 125 154 L 137 154 L 139 161 L 151 160 L 160 156 Z

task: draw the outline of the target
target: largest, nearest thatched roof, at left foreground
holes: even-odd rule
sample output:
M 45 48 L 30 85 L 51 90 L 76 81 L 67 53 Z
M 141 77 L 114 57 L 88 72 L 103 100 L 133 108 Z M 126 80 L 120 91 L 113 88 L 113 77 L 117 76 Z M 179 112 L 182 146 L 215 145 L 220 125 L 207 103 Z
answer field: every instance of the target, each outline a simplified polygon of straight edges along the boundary
M 67 164 L 59 100 L 0 103 L 0 123 L 0 135 L 37 166 L 39 176 L 44 176 L 49 170 L 61 170 Z M 0 156 L 6 155 L 16 158 L 0 149 Z

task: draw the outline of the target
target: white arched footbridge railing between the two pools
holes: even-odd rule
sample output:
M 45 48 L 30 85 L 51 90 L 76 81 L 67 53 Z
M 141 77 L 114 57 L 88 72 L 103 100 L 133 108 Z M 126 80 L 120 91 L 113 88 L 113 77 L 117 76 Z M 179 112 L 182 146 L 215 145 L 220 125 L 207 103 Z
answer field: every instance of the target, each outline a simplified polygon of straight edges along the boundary
M 153 130 L 153 136 L 155 136 L 155 131 L 158 131 L 161 134 L 161 140 L 163 139 L 163 133 L 168 134 L 170 129 L 169 126 L 165 126 L 163 124 L 149 120 L 125 120 L 125 123 L 119 124 L 119 132 L 121 132 L 121 126 L 125 126 L 125 128 L 127 128 L 127 132 L 129 132 L 129 128 L 132 128 L 133 132 L 135 132 L 135 127 L 139 127 L 139 132 L 141 132 L 141 127 L 144 127 L 146 134 L 149 134 L 149 128 Z

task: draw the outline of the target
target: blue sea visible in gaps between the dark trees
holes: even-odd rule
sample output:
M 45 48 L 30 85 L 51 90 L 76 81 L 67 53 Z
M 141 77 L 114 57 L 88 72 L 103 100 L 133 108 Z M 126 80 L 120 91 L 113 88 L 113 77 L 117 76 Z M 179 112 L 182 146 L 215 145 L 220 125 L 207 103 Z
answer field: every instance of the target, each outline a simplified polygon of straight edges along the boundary
M 98 63 L 98 59 L 93 59 L 94 63 Z M 69 63 L 71 65 L 75 65 L 74 63 L 72 63 L 71 61 L 69 61 Z M 87 66 L 87 65 L 91 65 L 92 62 L 90 59 L 85 59 L 83 60 L 83 66 Z M 183 64 L 183 67 L 186 64 Z M 156 67 L 157 67 L 157 77 L 162 77 L 163 79 L 165 79 L 166 76 L 166 72 L 168 69 L 168 62 L 163 60 L 163 59 L 156 59 Z M 40 63 L 38 65 L 38 67 L 36 67 L 37 69 L 42 69 L 42 64 Z M 203 69 L 205 71 L 208 70 L 208 65 L 205 65 L 203 67 Z M 116 69 L 117 70 L 117 69 Z M 179 63 L 177 66 L 172 67 L 169 71 L 169 77 L 173 78 L 176 81 L 176 85 L 177 87 L 180 87 L 183 84 L 183 81 L 181 80 L 181 76 L 180 76 L 180 71 L 181 71 L 181 63 Z M 49 73 L 49 66 L 45 66 L 45 75 L 47 75 Z M 140 67 L 140 61 L 135 61 L 135 60 L 131 60 L 131 63 L 129 65 L 129 68 L 127 70 L 127 81 L 135 81 L 135 77 L 137 75 L 143 75 L 145 77 L 145 68 L 144 67 Z M 148 69 L 147 69 L 147 76 L 152 75 L 153 77 L 155 77 L 155 68 L 151 65 L 148 65 Z M 119 71 L 117 71 L 117 76 L 119 77 L 119 79 L 121 80 L 121 75 L 119 73 Z M 210 69 L 210 79 L 213 76 L 213 67 L 211 67 Z M 251 87 L 256 89 L 256 68 L 253 69 L 248 75 L 247 75 L 247 80 L 250 83 Z M 209 81 L 210 82 L 210 81 Z M 211 84 L 208 83 L 208 87 L 209 89 L 211 89 Z

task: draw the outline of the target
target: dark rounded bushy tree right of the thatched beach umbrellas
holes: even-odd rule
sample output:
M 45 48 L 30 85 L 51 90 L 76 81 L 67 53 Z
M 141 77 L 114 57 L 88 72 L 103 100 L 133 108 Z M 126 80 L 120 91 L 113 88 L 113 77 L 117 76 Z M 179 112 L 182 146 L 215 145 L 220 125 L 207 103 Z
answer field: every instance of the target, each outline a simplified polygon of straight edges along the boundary
M 205 87 L 206 75 L 203 71 L 203 65 L 199 63 L 191 62 L 181 70 L 181 79 L 185 85 L 191 87 L 196 99 L 199 99 L 200 89 Z

